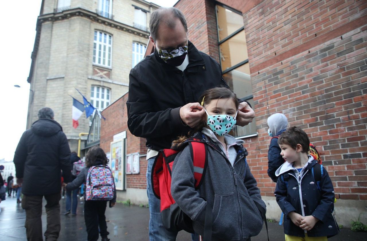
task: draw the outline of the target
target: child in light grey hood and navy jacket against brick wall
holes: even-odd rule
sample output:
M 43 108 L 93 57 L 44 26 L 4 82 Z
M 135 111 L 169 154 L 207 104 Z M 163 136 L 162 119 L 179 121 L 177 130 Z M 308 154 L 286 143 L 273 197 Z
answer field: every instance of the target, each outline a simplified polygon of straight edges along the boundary
M 268 135 L 272 137 L 268 150 L 268 176 L 276 182 L 278 177 L 275 171 L 284 163 L 284 159 L 280 156 L 280 147 L 278 145 L 278 138 L 280 134 L 287 129 L 288 120 L 282 113 L 275 113 L 268 118 Z

